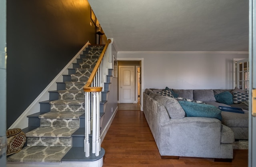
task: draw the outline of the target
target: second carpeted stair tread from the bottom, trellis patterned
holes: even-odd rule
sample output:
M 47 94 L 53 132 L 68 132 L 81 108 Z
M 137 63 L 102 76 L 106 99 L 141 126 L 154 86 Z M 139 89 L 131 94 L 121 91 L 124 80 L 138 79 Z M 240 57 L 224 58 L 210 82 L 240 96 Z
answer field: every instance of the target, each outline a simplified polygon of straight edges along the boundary
M 26 133 L 26 137 L 71 137 L 78 127 L 38 127 Z

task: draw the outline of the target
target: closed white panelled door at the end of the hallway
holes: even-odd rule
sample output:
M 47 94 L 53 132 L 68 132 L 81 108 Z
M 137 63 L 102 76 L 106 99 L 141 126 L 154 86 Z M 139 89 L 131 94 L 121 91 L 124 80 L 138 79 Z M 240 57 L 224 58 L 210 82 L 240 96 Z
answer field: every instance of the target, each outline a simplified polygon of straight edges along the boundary
M 119 102 L 133 103 L 135 66 L 119 66 Z

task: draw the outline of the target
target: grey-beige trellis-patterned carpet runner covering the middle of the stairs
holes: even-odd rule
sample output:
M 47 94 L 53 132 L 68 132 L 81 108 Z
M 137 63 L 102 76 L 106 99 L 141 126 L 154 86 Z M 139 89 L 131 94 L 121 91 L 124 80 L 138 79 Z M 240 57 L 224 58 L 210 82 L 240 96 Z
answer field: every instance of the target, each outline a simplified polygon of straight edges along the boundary
M 82 63 L 65 82 L 66 89 L 58 91 L 59 99 L 50 101 L 50 111 L 39 116 L 40 127 L 26 133 L 27 146 L 7 158 L 8 162 L 60 162 L 72 147 L 72 134 L 80 127 L 84 113 L 82 87 L 103 50 L 104 46 L 86 48 Z

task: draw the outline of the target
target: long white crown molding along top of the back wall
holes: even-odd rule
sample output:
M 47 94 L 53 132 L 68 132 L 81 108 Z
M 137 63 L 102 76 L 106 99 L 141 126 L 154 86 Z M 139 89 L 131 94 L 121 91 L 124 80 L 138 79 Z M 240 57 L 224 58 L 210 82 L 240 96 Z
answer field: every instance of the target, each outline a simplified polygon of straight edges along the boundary
M 240 51 L 118 51 L 118 54 L 249 54 Z

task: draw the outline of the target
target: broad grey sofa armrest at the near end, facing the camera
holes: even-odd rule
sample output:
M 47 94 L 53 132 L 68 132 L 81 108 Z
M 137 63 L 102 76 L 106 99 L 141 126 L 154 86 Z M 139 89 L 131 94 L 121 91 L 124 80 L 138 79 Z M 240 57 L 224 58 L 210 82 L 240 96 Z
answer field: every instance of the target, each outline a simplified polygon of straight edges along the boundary
M 221 130 L 221 121 L 215 118 L 170 119 L 162 123 L 155 140 L 161 155 L 219 158 Z

